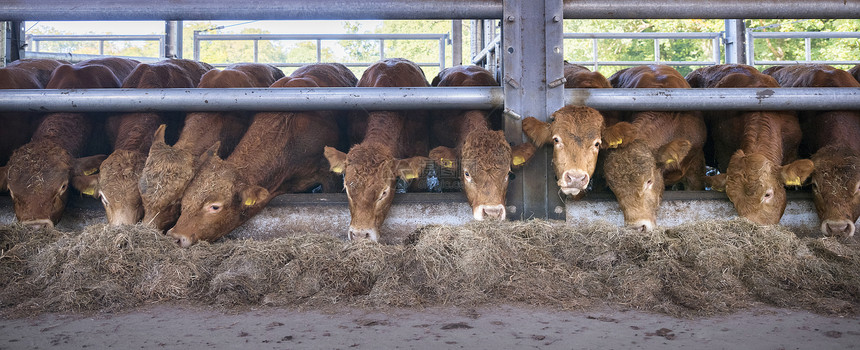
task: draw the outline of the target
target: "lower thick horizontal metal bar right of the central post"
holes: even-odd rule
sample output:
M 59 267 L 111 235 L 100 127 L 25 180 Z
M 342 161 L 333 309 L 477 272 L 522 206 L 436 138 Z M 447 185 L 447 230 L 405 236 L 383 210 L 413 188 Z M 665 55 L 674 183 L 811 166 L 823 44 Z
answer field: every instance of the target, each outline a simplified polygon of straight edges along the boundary
M 860 88 L 565 89 L 565 104 L 625 111 L 860 109 Z

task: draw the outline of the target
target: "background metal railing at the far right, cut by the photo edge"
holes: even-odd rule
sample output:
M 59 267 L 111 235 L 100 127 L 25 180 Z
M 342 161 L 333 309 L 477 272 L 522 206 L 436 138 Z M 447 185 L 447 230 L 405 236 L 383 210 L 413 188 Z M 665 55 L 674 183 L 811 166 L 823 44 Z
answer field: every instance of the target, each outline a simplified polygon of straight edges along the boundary
M 747 29 L 747 64 L 749 65 L 779 65 L 798 63 L 820 63 L 830 65 L 855 65 L 860 60 L 835 61 L 812 60 L 812 39 L 860 39 L 860 33 L 851 32 L 755 32 Z M 786 61 L 767 61 L 755 59 L 755 39 L 803 39 L 804 59 Z

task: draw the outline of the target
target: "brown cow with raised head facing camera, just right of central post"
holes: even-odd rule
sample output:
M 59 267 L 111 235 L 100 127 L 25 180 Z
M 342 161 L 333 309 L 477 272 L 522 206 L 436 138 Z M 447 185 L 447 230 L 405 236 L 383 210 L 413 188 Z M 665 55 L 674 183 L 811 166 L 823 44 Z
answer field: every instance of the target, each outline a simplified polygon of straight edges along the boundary
M 603 75 L 582 66 L 566 63 L 564 74 L 565 88 L 611 87 Z M 597 167 L 600 149 L 620 145 L 624 141 L 621 135 L 630 125 L 614 125 L 617 121 L 614 114 L 583 106 L 562 107 L 550 120 L 545 123 L 525 118 L 523 133 L 538 147 L 553 145 L 552 162 L 558 187 L 566 195 L 582 198 Z

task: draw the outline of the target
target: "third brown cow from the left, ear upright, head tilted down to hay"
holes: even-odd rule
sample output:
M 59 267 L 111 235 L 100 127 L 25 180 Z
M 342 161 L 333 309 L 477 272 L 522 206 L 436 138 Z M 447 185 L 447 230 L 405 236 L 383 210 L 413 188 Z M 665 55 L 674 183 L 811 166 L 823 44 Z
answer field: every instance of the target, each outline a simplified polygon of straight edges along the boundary
M 284 77 L 280 69 L 261 63 L 237 63 L 224 70 L 213 69 L 200 79 L 200 88 L 269 87 Z M 226 158 L 248 129 L 251 112 L 194 112 L 185 117 L 179 140 L 164 142 L 159 128 L 138 188 L 143 201 L 143 222 L 166 230 L 179 218 L 180 200 L 199 166 L 195 161 L 208 147 L 220 143 L 218 155 Z

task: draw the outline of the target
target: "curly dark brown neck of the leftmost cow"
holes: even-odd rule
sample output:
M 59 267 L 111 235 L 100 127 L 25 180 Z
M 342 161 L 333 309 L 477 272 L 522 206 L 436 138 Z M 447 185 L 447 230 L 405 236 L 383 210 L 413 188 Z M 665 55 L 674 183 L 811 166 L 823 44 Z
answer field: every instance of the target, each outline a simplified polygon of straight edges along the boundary
M 33 142 L 53 142 L 79 157 L 92 133 L 92 121 L 83 113 L 54 113 L 47 115 L 36 132 Z

